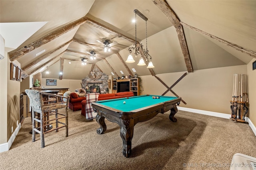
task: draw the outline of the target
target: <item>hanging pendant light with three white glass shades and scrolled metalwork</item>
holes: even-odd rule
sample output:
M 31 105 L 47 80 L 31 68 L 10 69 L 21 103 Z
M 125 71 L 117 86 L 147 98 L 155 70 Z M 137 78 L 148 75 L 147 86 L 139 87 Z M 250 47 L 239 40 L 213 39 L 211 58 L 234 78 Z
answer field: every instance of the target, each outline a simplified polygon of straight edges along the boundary
M 149 61 L 147 68 L 154 68 L 154 65 L 152 63 L 152 57 L 148 54 L 148 35 L 147 35 L 147 20 L 148 18 L 146 18 L 146 16 L 144 16 L 142 13 L 140 13 L 138 10 L 134 10 L 135 13 L 135 43 L 133 44 L 134 47 L 130 47 L 128 50 L 130 52 L 130 54 L 128 55 L 127 60 L 125 61 L 126 63 L 134 63 L 135 60 L 132 57 L 132 51 L 134 51 L 134 55 L 135 57 L 137 57 L 138 55 L 141 55 L 140 57 L 140 61 L 137 64 L 138 66 L 144 66 L 146 65 L 143 59 L 146 59 L 146 61 Z M 142 18 L 143 20 L 146 21 L 146 49 L 143 49 L 143 45 L 142 43 L 138 43 L 137 44 L 137 19 L 136 16 L 140 16 L 140 18 Z

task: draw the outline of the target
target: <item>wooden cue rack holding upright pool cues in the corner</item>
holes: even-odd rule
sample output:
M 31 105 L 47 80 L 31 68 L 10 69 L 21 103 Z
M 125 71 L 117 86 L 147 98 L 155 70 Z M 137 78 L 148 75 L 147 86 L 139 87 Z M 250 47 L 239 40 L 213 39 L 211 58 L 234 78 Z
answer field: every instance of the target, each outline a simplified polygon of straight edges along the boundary
M 230 101 L 231 117 L 235 123 L 245 122 L 245 115 L 248 112 L 248 96 L 245 92 L 247 87 L 246 74 L 234 74 L 233 80 L 233 95 Z

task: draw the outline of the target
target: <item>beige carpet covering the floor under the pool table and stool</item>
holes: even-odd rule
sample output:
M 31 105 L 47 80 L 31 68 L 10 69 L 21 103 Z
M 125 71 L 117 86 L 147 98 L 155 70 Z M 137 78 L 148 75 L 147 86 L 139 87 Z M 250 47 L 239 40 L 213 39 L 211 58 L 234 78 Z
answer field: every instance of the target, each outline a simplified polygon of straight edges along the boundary
M 98 135 L 98 123 L 86 121 L 80 111 L 69 111 L 69 136 L 65 129 L 40 136 L 32 143 L 30 117 L 7 152 L 0 153 L 1 170 L 228 170 L 232 156 L 256 157 L 256 137 L 248 124 L 207 115 L 178 111 L 172 122 L 168 112 L 134 127 L 132 155 L 122 155 L 119 126 L 106 120 Z

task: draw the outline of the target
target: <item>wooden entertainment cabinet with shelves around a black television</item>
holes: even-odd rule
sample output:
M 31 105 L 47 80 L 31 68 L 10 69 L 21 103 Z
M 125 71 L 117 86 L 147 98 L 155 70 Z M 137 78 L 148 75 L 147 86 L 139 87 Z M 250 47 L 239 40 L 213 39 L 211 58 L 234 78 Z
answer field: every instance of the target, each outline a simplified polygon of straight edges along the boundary
M 123 91 L 130 90 L 130 92 L 134 93 L 134 96 L 140 96 L 140 82 L 139 81 L 140 81 L 140 78 L 112 80 L 112 93 L 122 92 L 122 89 L 123 89 Z M 124 82 L 126 82 L 126 83 L 124 83 Z M 118 83 L 123 84 L 123 86 L 118 85 Z M 124 85 L 124 84 L 126 84 L 126 85 Z

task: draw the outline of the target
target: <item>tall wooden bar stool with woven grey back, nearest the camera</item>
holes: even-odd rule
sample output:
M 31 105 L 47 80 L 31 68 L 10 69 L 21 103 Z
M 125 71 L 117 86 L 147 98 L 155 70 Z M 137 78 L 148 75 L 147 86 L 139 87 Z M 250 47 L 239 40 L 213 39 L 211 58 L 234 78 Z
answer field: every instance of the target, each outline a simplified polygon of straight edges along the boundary
M 49 133 L 51 131 L 56 130 L 62 127 L 66 127 L 66 137 L 68 137 L 68 103 L 69 96 L 64 97 L 56 94 L 50 94 L 46 92 L 41 92 L 38 90 L 25 90 L 26 94 L 30 99 L 30 106 L 32 107 L 32 142 L 36 141 L 36 132 L 40 134 L 41 139 L 41 148 L 45 147 L 44 144 L 44 134 Z M 49 96 L 55 97 L 56 102 L 51 103 L 47 101 Z M 59 101 L 58 98 L 66 98 L 66 102 Z M 59 113 L 58 109 L 66 108 L 65 113 Z M 35 116 L 35 112 L 37 112 L 40 116 Z M 54 117 L 51 115 L 55 115 Z M 59 117 L 60 116 L 60 117 Z M 65 123 L 59 121 L 58 119 L 65 118 Z M 40 126 L 36 127 L 36 122 L 40 123 Z M 48 127 L 52 124 L 56 124 L 55 128 L 48 129 Z M 62 126 L 59 127 L 59 123 Z

